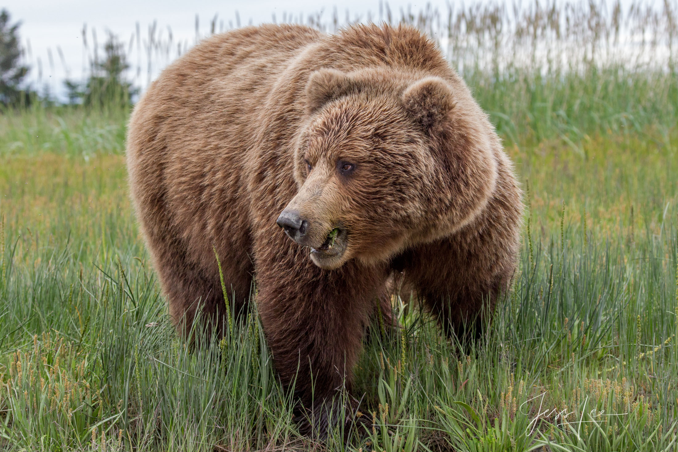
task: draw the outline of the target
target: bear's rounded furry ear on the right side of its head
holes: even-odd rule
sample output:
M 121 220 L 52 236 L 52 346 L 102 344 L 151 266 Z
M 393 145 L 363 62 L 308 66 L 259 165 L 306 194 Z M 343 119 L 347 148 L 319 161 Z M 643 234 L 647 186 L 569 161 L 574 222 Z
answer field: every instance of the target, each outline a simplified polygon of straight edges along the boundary
M 412 83 L 401 100 L 407 114 L 426 132 L 439 125 L 454 108 L 452 87 L 440 77 L 426 77 Z

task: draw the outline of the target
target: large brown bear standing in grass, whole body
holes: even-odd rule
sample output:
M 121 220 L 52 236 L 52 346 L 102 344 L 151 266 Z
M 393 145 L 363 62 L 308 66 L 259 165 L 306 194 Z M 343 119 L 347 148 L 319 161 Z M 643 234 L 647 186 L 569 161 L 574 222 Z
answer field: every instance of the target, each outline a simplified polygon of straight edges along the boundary
M 197 308 L 225 312 L 215 251 L 236 310 L 256 281 L 277 374 L 313 415 L 302 432 L 308 419 L 327 428 L 394 274 L 452 334 L 491 312 L 516 269 L 512 165 L 464 81 L 411 27 L 205 39 L 136 105 L 127 165 L 178 327 Z

